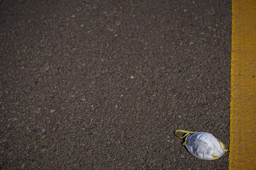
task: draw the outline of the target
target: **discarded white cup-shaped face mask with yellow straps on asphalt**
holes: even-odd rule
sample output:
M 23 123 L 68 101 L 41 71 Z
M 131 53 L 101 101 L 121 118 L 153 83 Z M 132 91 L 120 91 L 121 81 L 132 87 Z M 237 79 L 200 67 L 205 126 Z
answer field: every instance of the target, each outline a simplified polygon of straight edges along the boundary
M 177 132 L 184 132 L 184 136 L 179 136 Z M 212 134 L 207 132 L 190 132 L 177 130 L 175 135 L 179 138 L 185 138 L 184 146 L 188 151 L 200 159 L 214 160 L 219 159 L 225 152 L 227 147 Z

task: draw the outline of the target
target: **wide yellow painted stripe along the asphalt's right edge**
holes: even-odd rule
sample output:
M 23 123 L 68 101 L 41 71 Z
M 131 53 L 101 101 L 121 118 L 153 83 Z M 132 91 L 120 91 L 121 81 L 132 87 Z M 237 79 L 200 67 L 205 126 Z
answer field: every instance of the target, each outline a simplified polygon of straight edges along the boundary
M 256 0 L 232 0 L 229 169 L 256 169 Z

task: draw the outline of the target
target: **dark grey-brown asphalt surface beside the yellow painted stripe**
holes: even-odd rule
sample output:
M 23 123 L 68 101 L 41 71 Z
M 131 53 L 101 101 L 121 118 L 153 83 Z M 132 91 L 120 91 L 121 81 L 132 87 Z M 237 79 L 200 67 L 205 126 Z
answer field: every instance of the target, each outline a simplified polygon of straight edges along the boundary
M 228 169 L 230 1 L 0 3 L 0 169 Z

